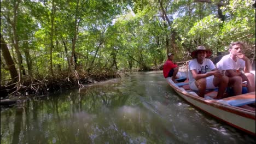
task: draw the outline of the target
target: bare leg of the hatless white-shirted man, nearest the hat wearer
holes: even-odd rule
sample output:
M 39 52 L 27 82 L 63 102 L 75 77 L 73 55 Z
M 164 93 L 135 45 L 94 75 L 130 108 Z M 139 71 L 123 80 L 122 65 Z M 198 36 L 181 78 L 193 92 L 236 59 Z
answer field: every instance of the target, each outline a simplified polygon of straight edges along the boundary
M 241 76 L 229 77 L 229 85 L 232 87 L 234 94 L 242 94 L 242 78 Z

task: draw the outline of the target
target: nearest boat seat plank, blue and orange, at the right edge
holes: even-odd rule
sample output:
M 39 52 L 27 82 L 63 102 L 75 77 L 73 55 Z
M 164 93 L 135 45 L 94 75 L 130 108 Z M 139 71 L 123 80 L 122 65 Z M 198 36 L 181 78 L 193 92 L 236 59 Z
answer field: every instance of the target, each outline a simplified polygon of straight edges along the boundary
M 255 103 L 255 92 L 236 95 L 234 97 L 221 99 L 232 106 L 242 106 Z

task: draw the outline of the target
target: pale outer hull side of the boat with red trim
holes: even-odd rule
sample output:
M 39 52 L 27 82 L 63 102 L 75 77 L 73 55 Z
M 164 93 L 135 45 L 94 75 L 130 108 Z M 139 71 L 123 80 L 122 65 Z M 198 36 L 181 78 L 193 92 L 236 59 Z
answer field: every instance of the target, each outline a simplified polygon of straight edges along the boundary
M 188 93 L 184 89 L 176 86 L 171 80 L 171 77 L 167 77 L 167 82 L 178 95 L 188 101 L 191 105 L 196 106 L 202 111 L 209 113 L 213 117 L 216 117 L 235 128 L 255 135 L 255 111 L 225 105 L 223 103 L 218 103 L 216 100 L 206 100 L 196 94 Z

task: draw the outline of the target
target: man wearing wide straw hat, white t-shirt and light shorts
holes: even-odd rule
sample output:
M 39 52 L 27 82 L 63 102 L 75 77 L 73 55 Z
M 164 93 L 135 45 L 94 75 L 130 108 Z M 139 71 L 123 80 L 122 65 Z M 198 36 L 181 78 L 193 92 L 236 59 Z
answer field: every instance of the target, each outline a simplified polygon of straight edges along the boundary
M 204 46 L 198 46 L 191 53 L 193 58 L 189 62 L 189 87 L 194 91 L 199 91 L 199 96 L 204 97 L 206 89 L 218 89 L 216 99 L 223 97 L 226 87 L 228 87 L 228 77 L 216 69 L 213 62 L 208 59 L 212 55 L 211 50 Z

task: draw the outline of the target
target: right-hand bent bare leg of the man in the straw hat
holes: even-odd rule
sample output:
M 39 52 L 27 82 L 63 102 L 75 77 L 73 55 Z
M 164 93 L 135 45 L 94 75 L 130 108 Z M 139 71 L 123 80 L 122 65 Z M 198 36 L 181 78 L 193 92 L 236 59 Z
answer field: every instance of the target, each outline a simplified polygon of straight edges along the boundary
M 228 87 L 229 77 L 228 76 L 222 76 L 222 77 L 215 77 L 213 79 L 213 85 L 215 87 L 219 87 L 217 99 L 221 99 L 223 97 L 223 94 L 225 92 L 225 89 Z

